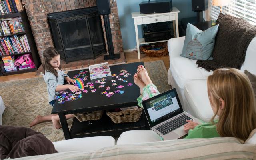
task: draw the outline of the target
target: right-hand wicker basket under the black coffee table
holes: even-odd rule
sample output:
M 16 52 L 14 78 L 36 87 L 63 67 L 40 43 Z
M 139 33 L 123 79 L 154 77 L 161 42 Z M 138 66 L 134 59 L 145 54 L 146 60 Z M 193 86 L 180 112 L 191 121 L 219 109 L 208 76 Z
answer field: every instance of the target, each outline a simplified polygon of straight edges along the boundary
M 120 112 L 108 112 L 106 114 L 114 123 L 137 122 L 140 119 L 142 108 L 128 109 Z

